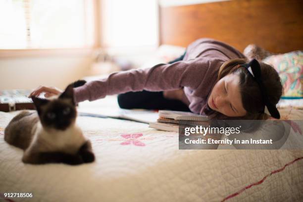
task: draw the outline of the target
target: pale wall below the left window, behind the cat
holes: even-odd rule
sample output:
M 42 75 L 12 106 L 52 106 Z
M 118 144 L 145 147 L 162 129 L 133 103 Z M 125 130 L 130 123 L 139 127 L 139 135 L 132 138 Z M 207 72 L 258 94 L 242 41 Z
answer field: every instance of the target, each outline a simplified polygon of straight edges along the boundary
M 87 75 L 87 56 L 0 57 L 0 89 L 32 89 L 39 85 L 65 88 Z

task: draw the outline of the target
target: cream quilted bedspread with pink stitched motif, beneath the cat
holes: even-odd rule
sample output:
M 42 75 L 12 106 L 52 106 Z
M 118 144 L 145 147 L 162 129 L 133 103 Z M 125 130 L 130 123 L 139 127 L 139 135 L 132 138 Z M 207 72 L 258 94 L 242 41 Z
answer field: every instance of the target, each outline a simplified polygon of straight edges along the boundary
M 91 164 L 29 165 L 6 144 L 0 112 L 0 198 L 43 202 L 303 201 L 303 151 L 178 150 L 178 134 L 132 121 L 80 116 Z

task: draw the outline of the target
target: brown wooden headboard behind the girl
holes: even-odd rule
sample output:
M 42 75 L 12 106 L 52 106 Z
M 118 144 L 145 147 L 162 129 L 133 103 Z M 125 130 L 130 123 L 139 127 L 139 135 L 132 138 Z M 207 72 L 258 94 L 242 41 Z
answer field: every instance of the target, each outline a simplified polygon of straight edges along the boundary
M 159 8 L 160 44 L 188 46 L 213 38 L 243 51 L 303 50 L 303 0 L 231 0 Z

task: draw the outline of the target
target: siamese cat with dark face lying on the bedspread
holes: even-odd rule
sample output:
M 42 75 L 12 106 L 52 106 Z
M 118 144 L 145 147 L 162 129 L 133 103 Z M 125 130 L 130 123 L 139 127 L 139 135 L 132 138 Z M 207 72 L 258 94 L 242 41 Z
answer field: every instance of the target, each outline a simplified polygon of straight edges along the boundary
M 32 97 L 37 111 L 21 111 L 5 128 L 4 140 L 24 150 L 24 163 L 77 165 L 95 160 L 91 142 L 75 123 L 73 87 L 52 100 Z

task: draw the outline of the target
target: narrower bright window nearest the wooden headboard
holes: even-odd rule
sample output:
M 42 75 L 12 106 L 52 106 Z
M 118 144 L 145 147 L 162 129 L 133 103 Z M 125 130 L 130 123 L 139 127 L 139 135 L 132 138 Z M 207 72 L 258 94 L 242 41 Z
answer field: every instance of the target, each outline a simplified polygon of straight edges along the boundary
M 157 9 L 156 0 L 102 0 L 103 46 L 156 47 Z

